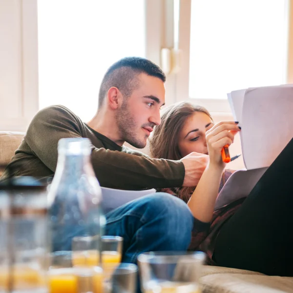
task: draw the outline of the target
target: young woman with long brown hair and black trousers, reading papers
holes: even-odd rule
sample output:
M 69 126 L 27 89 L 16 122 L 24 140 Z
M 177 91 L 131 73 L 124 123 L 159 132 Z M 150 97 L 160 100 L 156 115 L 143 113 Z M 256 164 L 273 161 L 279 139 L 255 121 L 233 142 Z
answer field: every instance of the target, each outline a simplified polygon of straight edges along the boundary
M 224 171 L 221 149 L 241 128 L 237 122 L 215 125 L 205 108 L 187 102 L 165 108 L 161 120 L 150 141 L 155 158 L 209 154 L 196 188 L 163 190 L 183 199 L 200 223 L 189 249 L 205 251 L 212 265 L 293 276 L 293 140 L 246 199 L 214 211 L 218 190 L 231 174 Z

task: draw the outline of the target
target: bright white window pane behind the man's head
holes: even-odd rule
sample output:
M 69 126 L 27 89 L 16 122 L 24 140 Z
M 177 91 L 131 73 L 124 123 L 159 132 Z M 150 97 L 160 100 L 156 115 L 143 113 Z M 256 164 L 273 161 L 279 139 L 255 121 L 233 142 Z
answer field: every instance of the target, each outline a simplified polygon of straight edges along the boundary
M 91 119 L 107 68 L 146 56 L 145 9 L 144 0 L 38 0 L 40 108 Z

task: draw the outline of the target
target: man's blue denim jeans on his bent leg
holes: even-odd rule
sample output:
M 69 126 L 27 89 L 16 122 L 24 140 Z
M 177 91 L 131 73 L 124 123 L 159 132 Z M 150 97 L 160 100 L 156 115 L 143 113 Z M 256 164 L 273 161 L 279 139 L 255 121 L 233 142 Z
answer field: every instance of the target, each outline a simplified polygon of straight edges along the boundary
M 157 192 L 108 212 L 105 235 L 122 236 L 122 261 L 136 263 L 146 251 L 186 251 L 193 220 L 181 199 Z

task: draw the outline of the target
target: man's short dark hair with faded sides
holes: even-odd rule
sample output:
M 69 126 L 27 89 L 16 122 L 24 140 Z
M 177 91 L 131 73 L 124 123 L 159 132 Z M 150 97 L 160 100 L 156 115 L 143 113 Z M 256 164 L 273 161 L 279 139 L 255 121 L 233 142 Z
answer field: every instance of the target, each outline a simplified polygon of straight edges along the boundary
M 99 92 L 99 107 L 112 86 L 117 87 L 124 96 L 129 97 L 138 85 L 138 75 L 146 73 L 166 81 L 166 75 L 155 63 L 141 57 L 126 57 L 114 63 L 105 73 Z

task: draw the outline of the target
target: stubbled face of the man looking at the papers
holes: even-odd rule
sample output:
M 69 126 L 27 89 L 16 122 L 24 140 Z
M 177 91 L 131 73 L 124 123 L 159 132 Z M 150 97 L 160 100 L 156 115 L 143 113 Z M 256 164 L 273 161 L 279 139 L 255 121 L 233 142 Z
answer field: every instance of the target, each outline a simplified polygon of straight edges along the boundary
M 121 139 L 144 148 L 153 127 L 161 123 L 160 107 L 165 104 L 165 85 L 157 77 L 139 75 L 139 86 L 124 97 L 116 119 Z

